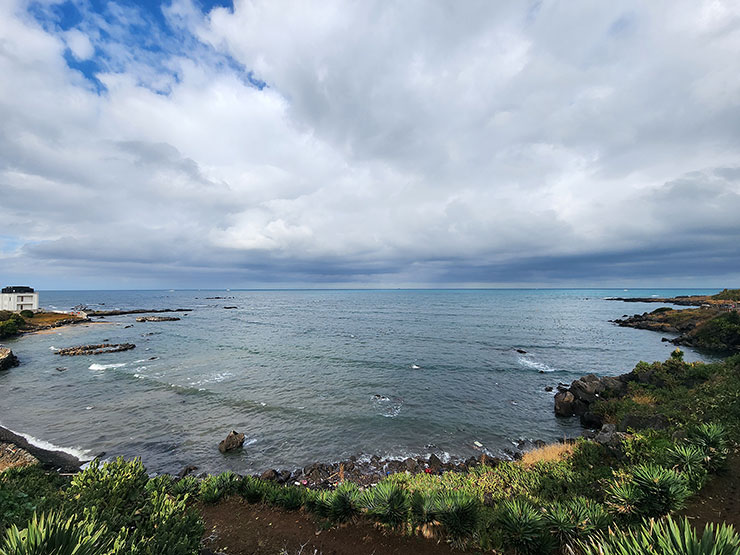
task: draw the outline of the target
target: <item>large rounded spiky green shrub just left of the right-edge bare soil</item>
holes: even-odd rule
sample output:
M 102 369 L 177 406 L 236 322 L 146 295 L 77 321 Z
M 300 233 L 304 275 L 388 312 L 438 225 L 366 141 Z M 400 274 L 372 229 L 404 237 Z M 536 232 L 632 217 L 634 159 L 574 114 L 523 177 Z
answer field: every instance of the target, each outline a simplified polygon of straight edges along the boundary
M 617 480 L 607 489 L 608 503 L 628 517 L 659 517 L 683 507 L 689 496 L 684 475 L 661 466 L 634 467 L 626 480 Z

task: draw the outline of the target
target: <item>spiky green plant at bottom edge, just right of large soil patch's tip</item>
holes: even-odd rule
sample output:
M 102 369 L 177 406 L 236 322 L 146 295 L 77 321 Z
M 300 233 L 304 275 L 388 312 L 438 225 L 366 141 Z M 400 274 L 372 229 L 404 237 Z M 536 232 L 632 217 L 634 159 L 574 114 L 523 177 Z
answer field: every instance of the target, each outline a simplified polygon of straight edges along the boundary
M 545 519 L 528 501 L 504 501 L 498 507 L 495 522 L 505 547 L 518 554 L 541 554 L 552 550 Z

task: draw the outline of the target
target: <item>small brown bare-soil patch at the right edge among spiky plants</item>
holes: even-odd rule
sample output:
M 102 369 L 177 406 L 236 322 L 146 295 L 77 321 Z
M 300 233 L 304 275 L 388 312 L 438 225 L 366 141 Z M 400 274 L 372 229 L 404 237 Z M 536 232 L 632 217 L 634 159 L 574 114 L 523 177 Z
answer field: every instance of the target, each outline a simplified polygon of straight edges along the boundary
M 724 472 L 704 486 L 679 514 L 687 516 L 699 530 L 709 522 L 726 522 L 740 530 L 740 452 L 735 451 Z

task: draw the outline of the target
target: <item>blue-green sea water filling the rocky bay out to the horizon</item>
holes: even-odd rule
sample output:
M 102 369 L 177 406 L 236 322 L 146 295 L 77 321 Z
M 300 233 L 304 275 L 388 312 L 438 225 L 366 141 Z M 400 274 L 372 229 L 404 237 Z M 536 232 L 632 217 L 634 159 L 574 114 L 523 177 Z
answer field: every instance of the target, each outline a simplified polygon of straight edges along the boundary
M 456 459 L 476 453 L 474 441 L 498 454 L 519 439 L 579 433 L 577 420 L 553 416 L 545 386 L 668 357 L 674 347 L 660 334 L 609 323 L 659 305 L 606 297 L 716 291 L 42 292 L 45 308 L 193 311 L 7 341 L 22 365 L 0 374 L 0 424 L 91 454 L 141 456 L 153 472 Z M 228 298 L 206 298 L 215 296 Z M 136 349 L 55 354 L 104 341 Z M 225 456 L 217 444 L 231 429 L 246 434 L 246 448 Z

